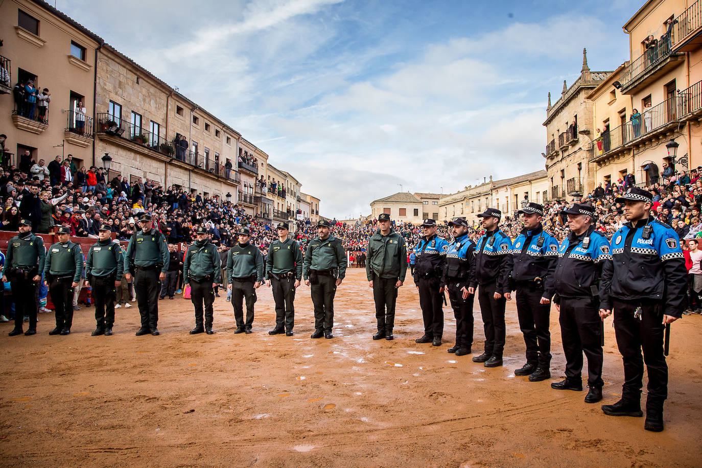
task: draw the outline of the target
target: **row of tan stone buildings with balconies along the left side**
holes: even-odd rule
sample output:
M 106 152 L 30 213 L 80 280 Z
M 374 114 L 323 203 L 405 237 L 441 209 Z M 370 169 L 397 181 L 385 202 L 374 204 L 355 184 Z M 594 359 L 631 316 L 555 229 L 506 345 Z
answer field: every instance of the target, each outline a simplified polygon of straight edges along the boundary
M 0 39 L 0 133 L 13 158 L 110 161 L 110 178 L 230 198 L 264 220 L 319 219 L 319 199 L 262 149 L 46 2 L 0 3 Z M 15 102 L 15 83 L 29 80 L 51 93 L 46 112 Z

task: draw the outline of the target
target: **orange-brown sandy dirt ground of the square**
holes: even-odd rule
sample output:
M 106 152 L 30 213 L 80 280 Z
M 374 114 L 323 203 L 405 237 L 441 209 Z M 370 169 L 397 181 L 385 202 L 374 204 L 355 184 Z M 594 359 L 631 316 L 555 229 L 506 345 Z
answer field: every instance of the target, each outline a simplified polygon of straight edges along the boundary
M 138 467 L 670 467 L 700 466 L 701 316 L 673 325 L 665 432 L 643 418 L 608 417 L 585 392 L 557 391 L 564 357 L 552 312 L 552 380 L 515 377 L 524 363 L 514 301 L 505 366 L 488 369 L 446 352 L 455 321 L 444 307 L 444 345 L 417 345 L 423 330 L 409 279 L 399 292 L 395 341 L 373 341 L 365 274 L 350 270 L 336 295 L 333 340 L 311 340 L 310 290 L 296 297 L 293 337 L 270 336 L 262 288 L 251 335 L 234 335 L 225 295 L 214 335 L 189 335 L 192 304 L 161 301 L 161 336 L 136 337 L 136 307 L 117 310 L 115 335 L 91 337 L 93 309 L 69 336 L 0 327 L 0 460 L 4 466 Z M 475 307 L 474 354 L 482 352 Z M 25 324 L 26 328 L 26 324 Z M 604 401 L 621 395 L 621 357 L 606 330 Z M 644 380 L 645 385 L 645 380 Z M 645 394 L 644 394 L 645 395 Z

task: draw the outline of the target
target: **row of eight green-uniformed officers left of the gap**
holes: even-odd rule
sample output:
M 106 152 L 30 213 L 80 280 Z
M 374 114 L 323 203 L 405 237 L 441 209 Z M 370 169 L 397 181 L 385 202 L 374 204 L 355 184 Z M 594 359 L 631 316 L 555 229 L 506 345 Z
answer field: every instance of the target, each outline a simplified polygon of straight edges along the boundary
M 149 215 L 143 215 L 139 224 L 141 229 L 133 234 L 124 253 L 119 244 L 112 241 L 107 225 L 100 226 L 98 242 L 86 253 L 85 283 L 92 286 L 97 323 L 93 336 L 112 335 L 115 289 L 123 274 L 134 283 L 141 318 L 136 335 L 159 335 L 159 290 L 171 255 L 165 236 L 154 229 Z M 237 323 L 234 333 L 252 333 L 256 290 L 265 283 L 272 288 L 276 312 L 276 325 L 268 333 L 293 335 L 295 292 L 304 276 L 314 304 L 312 338 L 333 338 L 333 300 L 346 271 L 346 255 L 340 239 L 331 236 L 328 221 L 320 220 L 319 235 L 310 241 L 303 260 L 300 244 L 289 238 L 289 225 L 280 223 L 277 232 L 279 239 L 270 244 L 265 267 L 263 255 L 250 241 L 249 229 L 243 228 L 237 233 L 238 243 L 229 250 L 225 274 L 232 289 L 231 302 Z M 49 335 L 70 333 L 73 290 L 81 281 L 84 256 L 81 246 L 70 241 L 68 228 L 60 227 L 57 235 L 58 242 L 46 250 L 41 237 L 32 233 L 31 222 L 22 220 L 18 236 L 8 242 L 2 279 L 11 283 L 15 298 L 15 327 L 10 336 L 37 333 L 37 286 L 42 273 L 55 308 L 56 326 Z M 190 286 L 194 304 L 195 328 L 190 330 L 193 335 L 214 333 L 214 288 L 222 282 L 221 275 L 220 253 L 208 240 L 206 229 L 199 227 L 196 240 L 183 258 L 183 278 L 185 285 Z M 29 329 L 23 332 L 25 316 L 29 318 Z

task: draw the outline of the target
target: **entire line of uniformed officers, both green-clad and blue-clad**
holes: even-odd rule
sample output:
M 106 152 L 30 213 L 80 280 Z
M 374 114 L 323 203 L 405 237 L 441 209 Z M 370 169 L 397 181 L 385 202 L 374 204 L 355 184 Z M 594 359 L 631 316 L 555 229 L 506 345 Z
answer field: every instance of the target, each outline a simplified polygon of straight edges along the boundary
M 616 232 L 611 245 L 595 231 L 595 210 L 574 203 L 563 211 L 570 233 L 562 243 L 543 230 L 543 207 L 528 203 L 519 213 L 524 229 L 514 242 L 499 228 L 500 210 L 487 208 L 479 215 L 485 234 L 477 243 L 468 236 L 468 223 L 456 218 L 453 240 L 437 237 L 435 220 L 423 222 L 423 237 L 416 247 L 413 280 L 419 292 L 424 335 L 418 343 L 442 345 L 444 293 L 449 293 L 456 317 L 456 342 L 450 353 L 472 353 L 473 303 L 477 294 L 484 326 L 484 349 L 472 358 L 494 368 L 502 366 L 505 347 L 505 304 L 516 290 L 519 328 L 526 345 L 526 363 L 515 375 L 532 382 L 550 378 L 550 304 L 559 312 L 566 357 L 565 379 L 554 389 L 582 391 L 583 354 L 588 359 L 585 402 L 602 399 L 602 346 L 604 320 L 614 311 L 618 349 L 624 363 L 621 400 L 602 406 L 607 415 L 641 417 L 644 360 L 649 375 L 645 429 L 663 430 L 663 402 L 667 398 L 668 368 L 663 349 L 664 333 L 682 316 L 686 274 L 677 234 L 650 218 L 652 196 L 631 188 L 616 201 L 624 203 L 628 222 Z M 378 216 L 380 229 L 371 236 L 366 274 L 373 289 L 378 332 L 373 340 L 392 340 L 397 290 L 405 280 L 406 245 L 394 232 L 390 216 Z M 121 276 L 131 275 L 141 316 L 137 335 L 158 335 L 160 283 L 168 270 L 166 239 L 152 227 L 148 215 L 141 230 L 130 239 L 122 258 L 121 248 L 110 239 L 107 226 L 86 255 L 86 282 L 93 286 L 97 328 L 93 335 L 111 335 L 114 323 L 114 287 Z M 271 335 L 293 335 L 296 288 L 304 278 L 314 305 L 312 338 L 332 338 L 333 299 L 345 276 L 346 257 L 340 239 L 331 235 L 329 222 L 320 220 L 318 236 L 310 241 L 304 260 L 297 241 L 289 239 L 288 225 L 277 227 L 279 239 L 263 256 L 251 242 L 251 232 L 241 229 L 227 258 L 226 274 L 232 288 L 237 322 L 234 333 L 251 333 L 256 290 L 265 282 L 272 288 L 276 326 Z M 56 309 L 56 328 L 50 334 L 70 333 L 72 288 L 81 278 L 80 246 L 69 241 L 60 228 L 59 242 L 45 254 L 41 238 L 22 221 L 20 233 L 8 245 L 3 281 L 10 281 L 16 302 L 15 329 L 22 333 L 22 317 L 29 316 L 29 330 L 36 333 L 36 288 L 44 272 Z M 204 229 L 185 253 L 183 277 L 191 288 L 196 326 L 192 334 L 213 333 L 214 288 L 220 283 L 220 256 Z M 127 279 L 130 279 L 127 276 Z M 244 300 L 246 316 L 244 316 Z M 204 315 L 204 320 L 203 320 Z M 643 352 L 643 359 L 642 359 Z

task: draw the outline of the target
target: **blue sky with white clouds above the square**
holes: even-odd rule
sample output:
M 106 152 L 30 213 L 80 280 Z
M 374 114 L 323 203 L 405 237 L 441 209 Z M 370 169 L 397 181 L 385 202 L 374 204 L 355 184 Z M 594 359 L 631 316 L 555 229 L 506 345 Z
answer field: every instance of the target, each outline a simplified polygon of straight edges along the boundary
M 369 213 L 543 168 L 546 96 L 628 60 L 642 0 L 94 0 L 57 7 L 241 132 L 322 199 Z

